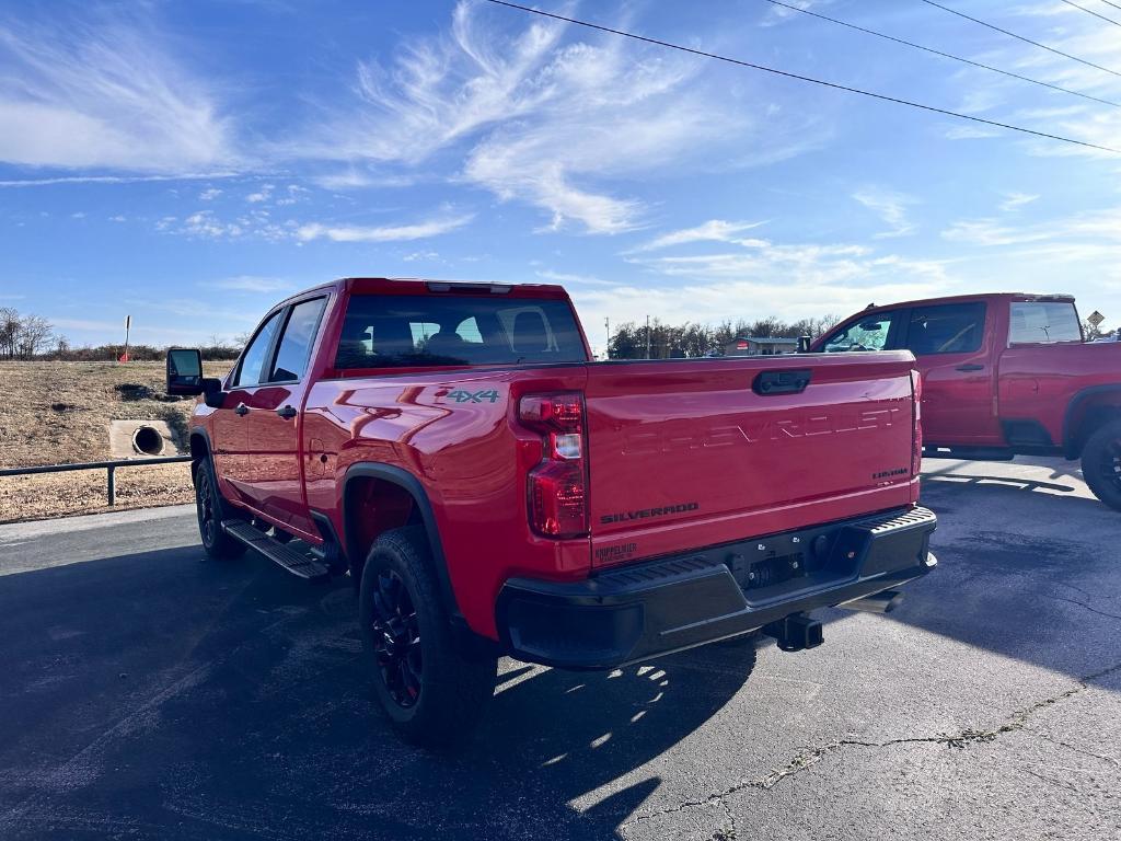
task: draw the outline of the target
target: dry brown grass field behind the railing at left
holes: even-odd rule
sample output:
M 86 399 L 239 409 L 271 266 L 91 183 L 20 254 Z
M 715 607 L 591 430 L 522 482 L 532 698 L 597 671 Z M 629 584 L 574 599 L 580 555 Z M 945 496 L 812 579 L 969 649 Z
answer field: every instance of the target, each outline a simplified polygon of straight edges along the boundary
M 164 394 L 163 362 L 0 362 L 0 468 L 110 459 L 111 420 L 165 420 L 182 436 L 193 405 Z M 191 500 L 186 464 L 117 471 L 117 509 Z M 0 477 L 0 523 L 103 510 L 103 470 Z

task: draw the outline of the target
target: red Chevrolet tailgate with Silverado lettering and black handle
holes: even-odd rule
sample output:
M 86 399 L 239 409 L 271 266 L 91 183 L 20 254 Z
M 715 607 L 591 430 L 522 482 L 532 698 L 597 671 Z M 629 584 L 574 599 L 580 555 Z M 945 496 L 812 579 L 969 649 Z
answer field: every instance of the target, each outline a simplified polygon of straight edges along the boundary
M 912 367 L 907 351 L 589 366 L 592 563 L 914 501 Z

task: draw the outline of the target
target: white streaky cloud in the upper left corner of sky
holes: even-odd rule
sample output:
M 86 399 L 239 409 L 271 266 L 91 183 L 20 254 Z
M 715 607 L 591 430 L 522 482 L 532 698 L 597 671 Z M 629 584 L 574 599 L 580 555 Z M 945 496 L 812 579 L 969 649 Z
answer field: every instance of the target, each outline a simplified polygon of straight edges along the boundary
M 170 174 L 237 157 L 205 80 L 139 19 L 0 20 L 0 124 L 9 164 Z

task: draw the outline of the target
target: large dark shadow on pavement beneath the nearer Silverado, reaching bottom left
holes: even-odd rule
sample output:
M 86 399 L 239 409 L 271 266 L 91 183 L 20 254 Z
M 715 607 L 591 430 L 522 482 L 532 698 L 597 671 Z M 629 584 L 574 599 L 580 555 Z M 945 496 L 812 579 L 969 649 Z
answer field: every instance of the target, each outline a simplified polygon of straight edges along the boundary
M 754 659 L 745 643 L 617 673 L 503 660 L 478 738 L 435 756 L 376 709 L 346 582 L 201 554 L 0 579 L 0 837 L 610 838 L 661 783 L 632 773 Z

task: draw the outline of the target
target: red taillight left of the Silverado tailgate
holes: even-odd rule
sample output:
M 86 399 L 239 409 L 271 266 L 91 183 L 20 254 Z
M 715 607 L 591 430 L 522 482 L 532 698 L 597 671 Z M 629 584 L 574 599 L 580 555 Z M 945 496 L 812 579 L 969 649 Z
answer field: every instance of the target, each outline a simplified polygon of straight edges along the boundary
M 529 525 L 546 537 L 587 534 L 584 396 L 526 395 L 518 404 L 518 419 L 543 435 L 541 463 L 527 479 Z

